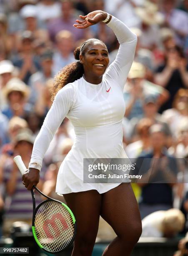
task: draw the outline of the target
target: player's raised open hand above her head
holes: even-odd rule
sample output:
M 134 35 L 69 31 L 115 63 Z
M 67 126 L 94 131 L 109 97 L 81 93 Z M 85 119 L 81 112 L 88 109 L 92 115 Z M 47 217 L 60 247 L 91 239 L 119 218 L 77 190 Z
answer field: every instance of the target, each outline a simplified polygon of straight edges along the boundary
M 89 26 L 95 25 L 99 23 L 100 21 L 105 20 L 107 17 L 107 13 L 101 11 L 101 10 L 96 10 L 94 12 L 88 13 L 87 15 L 79 15 L 81 19 L 83 20 L 76 20 L 78 24 L 74 24 L 73 26 L 75 28 L 88 28 Z

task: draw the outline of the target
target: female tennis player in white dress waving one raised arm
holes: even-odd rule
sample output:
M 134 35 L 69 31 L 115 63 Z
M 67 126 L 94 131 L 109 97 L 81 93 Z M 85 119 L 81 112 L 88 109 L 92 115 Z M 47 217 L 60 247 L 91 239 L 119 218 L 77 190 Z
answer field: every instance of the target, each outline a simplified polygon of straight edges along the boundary
M 126 158 L 122 119 L 123 87 L 133 62 L 137 37 L 120 20 L 97 10 L 74 24 L 84 29 L 103 21 L 120 43 L 115 61 L 108 67 L 108 50 L 98 39 L 75 49 L 75 63 L 64 67 L 54 85 L 55 99 L 35 140 L 25 187 L 39 181 L 43 157 L 55 131 L 67 116 L 74 125 L 75 143 L 60 166 L 56 192 L 64 195 L 77 221 L 72 256 L 91 256 L 101 215 L 117 237 L 103 256 L 128 256 L 141 235 L 138 204 L 130 182 L 83 183 L 83 158 Z M 108 67 L 108 68 L 107 68 Z

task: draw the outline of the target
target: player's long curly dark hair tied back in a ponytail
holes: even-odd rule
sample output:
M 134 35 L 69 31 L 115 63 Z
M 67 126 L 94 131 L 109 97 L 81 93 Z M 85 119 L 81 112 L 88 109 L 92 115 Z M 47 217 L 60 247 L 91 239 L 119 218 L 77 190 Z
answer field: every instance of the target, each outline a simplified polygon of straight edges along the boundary
M 75 59 L 78 61 L 68 64 L 56 75 L 53 88 L 51 89 L 51 100 L 52 101 L 54 100 L 55 95 L 58 93 L 58 91 L 61 88 L 63 88 L 66 84 L 73 83 L 75 80 L 80 79 L 83 76 L 83 74 L 84 74 L 83 64 L 80 63 L 80 61 L 79 61 L 80 54 L 84 55 L 87 47 L 90 44 L 93 44 L 95 41 L 99 41 L 99 42 L 103 43 L 103 41 L 100 41 L 99 39 L 96 39 L 96 38 L 91 38 L 91 39 L 88 39 L 85 42 L 83 42 L 83 44 L 81 46 L 77 47 L 74 51 Z M 105 45 L 105 47 L 106 47 L 106 45 Z M 107 47 L 106 47 L 106 49 L 107 49 Z

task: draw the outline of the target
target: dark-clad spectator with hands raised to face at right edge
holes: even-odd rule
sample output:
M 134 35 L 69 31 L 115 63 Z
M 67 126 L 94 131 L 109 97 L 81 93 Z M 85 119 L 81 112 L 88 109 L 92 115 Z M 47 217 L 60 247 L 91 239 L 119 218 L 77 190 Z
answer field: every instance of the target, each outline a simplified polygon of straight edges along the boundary
M 172 108 L 172 102 L 178 90 L 188 87 L 188 64 L 179 46 L 168 49 L 165 63 L 157 68 L 155 82 L 170 93 L 169 99 L 160 108 L 162 113 Z

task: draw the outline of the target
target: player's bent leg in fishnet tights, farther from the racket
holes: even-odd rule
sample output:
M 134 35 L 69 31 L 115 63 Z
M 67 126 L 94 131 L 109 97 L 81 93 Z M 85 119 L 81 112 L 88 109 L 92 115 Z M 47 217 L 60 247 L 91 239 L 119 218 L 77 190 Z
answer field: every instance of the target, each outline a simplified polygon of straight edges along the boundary
M 117 235 L 103 256 L 129 256 L 142 233 L 138 203 L 130 183 L 102 194 L 101 216 Z

